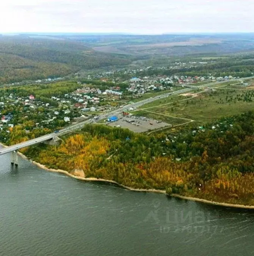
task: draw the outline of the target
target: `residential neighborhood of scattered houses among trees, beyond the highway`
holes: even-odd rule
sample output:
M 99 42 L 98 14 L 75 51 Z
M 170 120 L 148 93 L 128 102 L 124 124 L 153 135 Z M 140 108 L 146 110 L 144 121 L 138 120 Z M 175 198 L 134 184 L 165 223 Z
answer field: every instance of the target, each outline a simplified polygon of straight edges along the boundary
M 71 83 L 73 90 L 67 89 L 66 93 L 55 90 L 47 95 L 42 93 L 39 96 L 36 96 L 36 92 L 33 91 L 34 86 L 41 88 L 39 92 L 47 87 L 57 88 L 61 85 L 60 83 L 65 83 L 63 81 L 65 78 L 36 80 L 34 81 L 36 85 L 30 86 L 30 91 L 27 91 L 26 86 L 22 86 L 22 83 L 16 83 L 16 86 L 11 88 L 17 89 L 11 89 L 11 93 L 2 91 L 0 94 L 1 136 L 5 138 L 10 129 L 16 129 L 16 126 L 22 126 L 26 133 L 34 129 L 54 130 L 66 126 L 70 122 L 93 118 L 97 114 L 114 110 L 132 100 L 142 99 L 145 94 L 149 94 L 151 97 L 155 92 L 173 92 L 185 86 L 230 81 L 236 78 L 230 74 L 224 77 L 155 75 L 156 70 L 198 67 L 205 64 L 206 62 L 176 62 L 170 67 L 124 68 L 94 73 L 85 77 L 77 76 L 76 80 L 67 82 Z M 148 71 L 152 75 L 138 76 L 138 74 Z M 125 75 L 128 75 L 129 78 L 126 79 Z M 246 84 L 248 85 L 248 83 L 241 82 L 242 86 L 246 86 Z

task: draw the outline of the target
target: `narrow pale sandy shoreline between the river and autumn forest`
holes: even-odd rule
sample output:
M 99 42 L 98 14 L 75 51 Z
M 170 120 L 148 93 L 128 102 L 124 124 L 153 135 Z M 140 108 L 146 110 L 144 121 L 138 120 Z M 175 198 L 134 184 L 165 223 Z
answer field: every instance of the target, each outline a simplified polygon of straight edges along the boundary
M 6 147 L 4 144 L 0 143 L 0 146 Z M 29 159 L 22 153 L 18 152 L 18 154 L 23 157 L 24 159 L 28 160 Z M 138 192 L 154 192 L 154 193 L 160 193 L 160 194 L 165 194 L 166 195 L 166 190 L 160 190 L 160 189 L 138 189 L 138 188 L 131 188 L 128 186 L 124 186 L 116 181 L 113 180 L 105 180 L 105 179 L 100 179 L 100 178 L 83 178 L 83 177 L 79 177 L 79 176 L 75 176 L 67 171 L 64 170 L 56 170 L 56 169 L 49 169 L 47 168 L 45 165 L 40 164 L 38 162 L 35 161 L 31 161 L 34 165 L 38 166 L 41 169 L 47 170 L 49 172 L 56 172 L 56 173 L 62 173 L 64 175 L 67 175 L 69 177 L 72 177 L 74 179 L 77 180 L 82 180 L 82 181 L 99 181 L 99 182 L 105 182 L 105 183 L 111 183 L 111 184 L 115 184 L 121 188 L 125 188 L 128 189 L 130 191 L 138 191 Z M 178 194 L 171 194 L 170 196 L 172 197 L 176 197 L 176 198 L 180 198 L 180 199 L 185 199 L 185 200 L 191 200 L 191 201 L 195 201 L 195 202 L 201 202 L 201 203 L 205 203 L 205 204 L 211 204 L 211 205 L 219 205 L 219 206 L 224 206 L 224 207 L 234 207 L 234 208 L 243 208 L 243 209 L 254 209 L 254 205 L 240 205 L 240 204 L 227 204 L 227 203 L 219 203 L 219 202 L 213 202 L 213 201 L 209 201 L 206 199 L 200 199 L 200 198 L 196 198 L 196 197 L 187 197 L 187 196 L 180 196 Z

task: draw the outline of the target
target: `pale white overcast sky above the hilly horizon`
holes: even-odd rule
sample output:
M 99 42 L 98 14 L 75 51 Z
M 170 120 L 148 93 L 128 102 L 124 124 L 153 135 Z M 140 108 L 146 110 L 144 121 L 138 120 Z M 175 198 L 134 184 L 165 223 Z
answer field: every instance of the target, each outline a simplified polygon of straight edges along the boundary
M 254 0 L 0 0 L 14 32 L 254 32 Z

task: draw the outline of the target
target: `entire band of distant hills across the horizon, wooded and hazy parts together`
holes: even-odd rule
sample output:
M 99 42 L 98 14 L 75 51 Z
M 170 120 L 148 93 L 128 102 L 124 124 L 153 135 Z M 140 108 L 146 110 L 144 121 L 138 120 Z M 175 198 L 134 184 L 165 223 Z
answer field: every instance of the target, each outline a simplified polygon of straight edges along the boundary
M 126 35 L 43 33 L 0 36 L 0 83 L 172 57 L 254 51 L 254 33 Z M 141 61 L 145 60 L 145 61 Z M 252 65 L 252 64 L 251 64 Z

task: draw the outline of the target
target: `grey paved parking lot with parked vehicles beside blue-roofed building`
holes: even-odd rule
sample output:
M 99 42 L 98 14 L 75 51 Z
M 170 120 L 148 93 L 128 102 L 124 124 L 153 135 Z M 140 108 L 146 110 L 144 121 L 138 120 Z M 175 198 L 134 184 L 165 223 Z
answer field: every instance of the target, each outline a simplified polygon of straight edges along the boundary
M 171 126 L 165 122 L 157 121 L 143 116 L 118 116 L 118 121 L 107 122 L 108 126 L 122 127 L 132 130 L 133 132 L 146 132 L 165 126 Z

